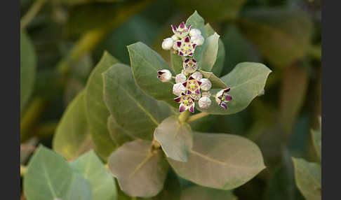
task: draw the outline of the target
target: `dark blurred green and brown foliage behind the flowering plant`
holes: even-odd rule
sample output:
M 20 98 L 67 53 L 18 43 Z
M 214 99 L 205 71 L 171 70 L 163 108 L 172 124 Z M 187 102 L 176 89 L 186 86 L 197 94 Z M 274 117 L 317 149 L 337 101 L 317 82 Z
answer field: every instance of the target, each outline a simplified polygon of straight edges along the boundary
M 39 143 L 51 147 L 62 113 L 105 50 L 129 65 L 126 46 L 142 41 L 170 62 L 161 49 L 163 38 L 172 35 L 170 24 L 197 10 L 225 45 L 222 76 L 239 62 L 262 62 L 273 72 L 265 95 L 248 108 L 204 117 L 192 127 L 243 135 L 260 146 L 267 169 L 234 190 L 239 199 L 303 199 L 290 157 L 318 159 L 309 129 L 321 115 L 321 0 L 20 3 L 21 164 Z

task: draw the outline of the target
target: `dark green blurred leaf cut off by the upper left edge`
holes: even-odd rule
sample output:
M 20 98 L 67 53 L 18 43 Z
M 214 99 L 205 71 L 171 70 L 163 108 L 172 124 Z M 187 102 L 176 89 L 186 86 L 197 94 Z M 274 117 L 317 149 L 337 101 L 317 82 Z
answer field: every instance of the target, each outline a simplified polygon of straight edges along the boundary
M 36 76 L 36 53 L 25 31 L 20 31 L 20 111 L 33 92 Z

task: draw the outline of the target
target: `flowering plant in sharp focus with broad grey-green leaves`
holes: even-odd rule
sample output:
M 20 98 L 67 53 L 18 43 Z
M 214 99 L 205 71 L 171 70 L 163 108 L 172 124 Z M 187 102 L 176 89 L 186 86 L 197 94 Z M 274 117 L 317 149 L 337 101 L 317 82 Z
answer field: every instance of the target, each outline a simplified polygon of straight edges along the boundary
M 215 190 L 233 190 L 265 168 L 262 153 L 252 141 L 233 134 L 199 132 L 194 122 L 246 108 L 262 94 L 271 70 L 260 63 L 243 62 L 220 77 L 224 44 L 196 12 L 179 26 L 171 26 L 170 32 L 172 36 L 160 44 L 170 50 L 170 65 L 141 42 L 128 45 L 131 67 L 105 52 L 86 88 L 67 108 L 53 140 L 56 152 L 76 160 L 71 166 L 59 158 L 40 166 L 37 163 L 51 152 L 39 150 L 24 181 L 27 199 L 38 198 L 30 195 L 43 189 L 50 191 L 45 199 L 68 199 L 72 195 L 68 192 L 81 191 L 81 185 L 93 192 L 93 199 L 116 195 L 112 181 L 99 183 L 95 178 L 95 154 L 77 158 L 89 143 L 131 197 L 157 199 L 177 194 L 165 184 L 172 179 L 170 168 L 185 180 Z M 65 176 L 55 176 L 53 166 L 60 166 Z M 74 173 L 73 167 L 81 173 Z M 41 175 L 41 170 L 46 173 Z M 37 174 L 41 178 L 34 183 L 32 177 Z M 72 183 L 61 187 L 65 177 Z M 102 177 L 107 178 L 107 173 L 102 171 Z M 51 187 L 42 189 L 47 182 Z M 102 184 L 102 190 L 95 188 Z

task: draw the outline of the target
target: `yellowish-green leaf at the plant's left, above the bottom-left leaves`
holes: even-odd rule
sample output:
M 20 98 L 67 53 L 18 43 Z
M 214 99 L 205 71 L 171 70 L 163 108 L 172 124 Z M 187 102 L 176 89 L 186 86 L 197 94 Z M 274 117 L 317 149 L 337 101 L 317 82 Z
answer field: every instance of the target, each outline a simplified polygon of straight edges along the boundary
M 53 150 L 66 159 L 79 157 L 93 148 L 86 121 L 84 91 L 74 98 L 62 115 L 53 137 Z

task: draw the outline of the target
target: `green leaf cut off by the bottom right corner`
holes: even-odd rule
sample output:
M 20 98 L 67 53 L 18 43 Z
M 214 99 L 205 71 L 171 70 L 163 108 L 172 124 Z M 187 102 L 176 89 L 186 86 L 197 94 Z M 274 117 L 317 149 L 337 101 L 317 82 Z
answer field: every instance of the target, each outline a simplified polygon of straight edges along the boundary
M 305 199 L 321 199 L 321 165 L 293 157 L 295 181 Z

